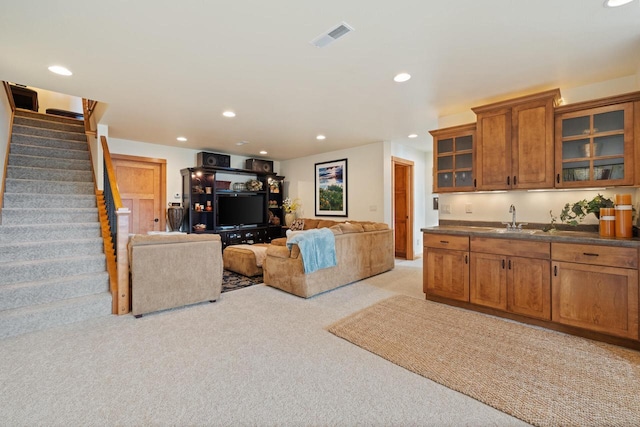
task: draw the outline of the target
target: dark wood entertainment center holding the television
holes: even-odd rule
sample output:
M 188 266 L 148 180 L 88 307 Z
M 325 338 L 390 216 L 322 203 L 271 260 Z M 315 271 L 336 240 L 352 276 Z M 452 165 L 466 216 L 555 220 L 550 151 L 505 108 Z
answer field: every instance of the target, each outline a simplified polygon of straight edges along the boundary
M 283 235 L 284 177 L 273 172 L 215 166 L 186 168 L 180 173 L 185 209 L 183 231 L 219 234 L 223 248 L 270 242 Z M 259 181 L 262 188 L 247 188 L 250 180 Z M 278 191 L 272 192 L 272 187 Z M 221 199 L 224 203 L 220 203 Z M 235 206 L 241 210 L 233 211 Z M 277 218 L 273 221 L 277 224 L 270 223 L 271 217 Z

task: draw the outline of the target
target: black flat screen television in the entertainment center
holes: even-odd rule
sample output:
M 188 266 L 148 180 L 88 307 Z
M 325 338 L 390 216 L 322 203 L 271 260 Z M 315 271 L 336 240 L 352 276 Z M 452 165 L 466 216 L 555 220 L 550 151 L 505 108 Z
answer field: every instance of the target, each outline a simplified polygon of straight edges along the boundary
M 217 225 L 220 227 L 266 223 L 264 194 L 219 194 Z

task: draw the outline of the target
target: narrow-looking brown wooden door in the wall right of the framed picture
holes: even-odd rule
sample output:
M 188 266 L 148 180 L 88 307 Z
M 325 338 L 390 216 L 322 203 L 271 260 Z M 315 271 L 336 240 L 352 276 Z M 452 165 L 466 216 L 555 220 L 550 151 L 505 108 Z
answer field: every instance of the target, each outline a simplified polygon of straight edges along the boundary
M 412 260 L 413 255 L 413 162 L 392 158 L 393 229 L 395 256 Z

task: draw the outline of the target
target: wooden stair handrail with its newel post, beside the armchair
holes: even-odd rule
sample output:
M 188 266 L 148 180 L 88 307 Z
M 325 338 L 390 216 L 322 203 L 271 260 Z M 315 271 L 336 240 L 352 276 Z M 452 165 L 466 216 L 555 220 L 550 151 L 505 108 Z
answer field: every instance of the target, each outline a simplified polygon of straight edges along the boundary
M 110 268 L 109 262 L 107 262 L 112 283 L 111 295 L 114 296 L 114 314 L 127 314 L 130 310 L 129 256 L 127 254 L 127 244 L 129 242 L 129 216 L 131 211 L 122 204 L 122 199 L 120 198 L 107 138 L 100 136 L 100 143 L 102 145 L 104 161 L 104 206 L 108 219 L 107 223 L 109 224 L 109 230 L 107 230 L 108 235 L 106 237 L 111 240 L 113 244 L 113 254 L 115 255 L 115 266 L 112 265 Z M 104 234 L 103 232 L 103 237 L 105 237 Z M 105 250 L 106 248 L 107 246 L 105 245 Z M 109 257 L 107 257 L 107 259 L 109 259 Z M 115 271 L 113 271 L 114 269 Z

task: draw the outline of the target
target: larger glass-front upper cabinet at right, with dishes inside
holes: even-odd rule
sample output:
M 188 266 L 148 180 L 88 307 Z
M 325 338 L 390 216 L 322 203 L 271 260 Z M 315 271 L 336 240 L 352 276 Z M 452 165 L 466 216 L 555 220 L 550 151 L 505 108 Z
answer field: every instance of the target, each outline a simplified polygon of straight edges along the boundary
M 633 102 L 612 102 L 556 109 L 556 187 L 633 184 Z

